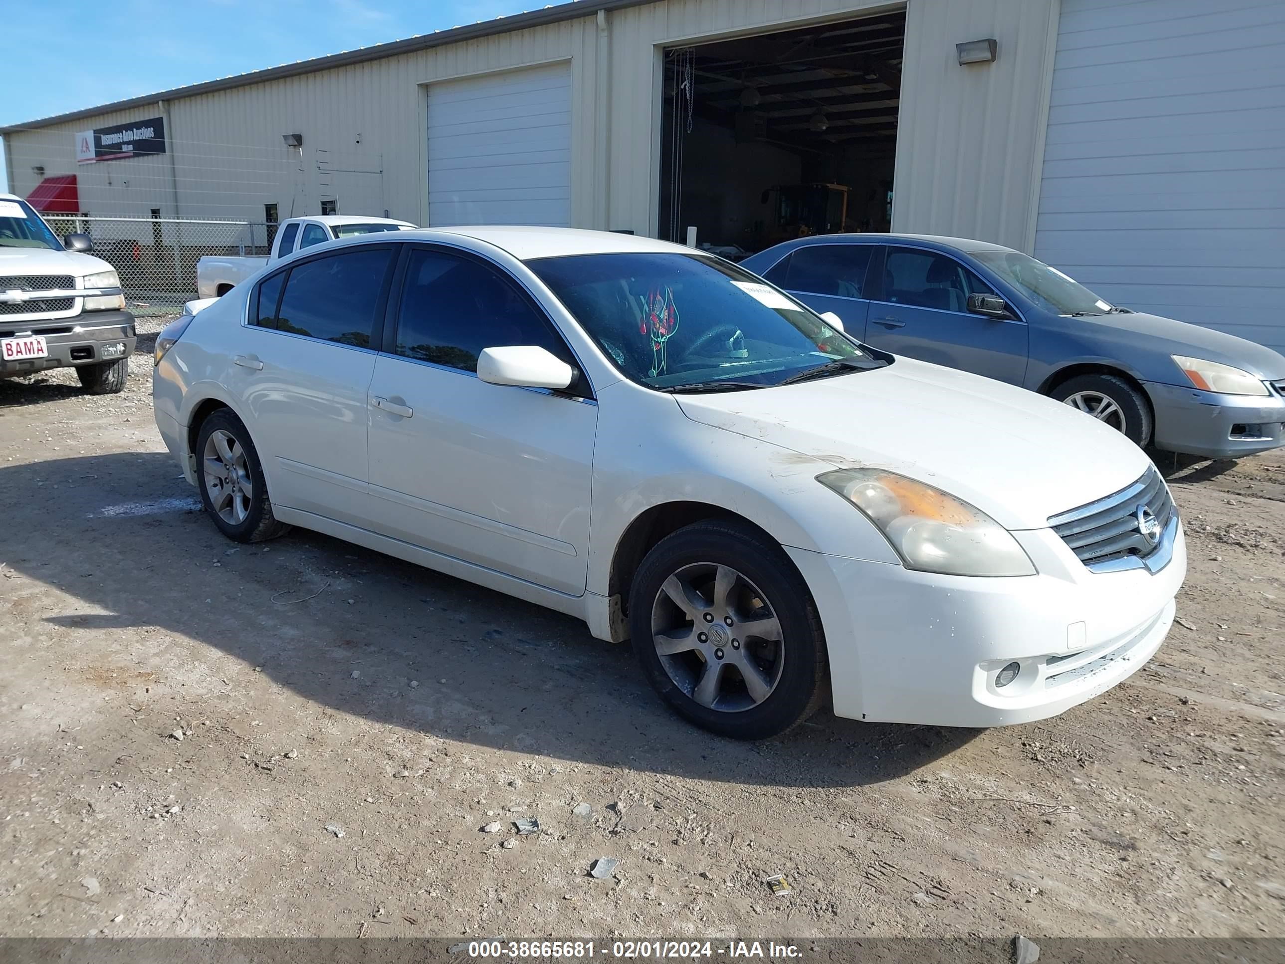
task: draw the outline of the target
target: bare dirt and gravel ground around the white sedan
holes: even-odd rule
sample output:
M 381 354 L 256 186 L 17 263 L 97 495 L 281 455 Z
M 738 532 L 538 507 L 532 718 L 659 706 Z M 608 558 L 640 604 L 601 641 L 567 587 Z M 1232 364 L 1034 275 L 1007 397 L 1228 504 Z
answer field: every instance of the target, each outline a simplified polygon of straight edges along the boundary
M 224 540 L 140 347 L 0 382 L 0 934 L 1285 934 L 1285 454 L 1163 467 L 1182 622 L 1105 697 L 740 744 L 573 620 Z

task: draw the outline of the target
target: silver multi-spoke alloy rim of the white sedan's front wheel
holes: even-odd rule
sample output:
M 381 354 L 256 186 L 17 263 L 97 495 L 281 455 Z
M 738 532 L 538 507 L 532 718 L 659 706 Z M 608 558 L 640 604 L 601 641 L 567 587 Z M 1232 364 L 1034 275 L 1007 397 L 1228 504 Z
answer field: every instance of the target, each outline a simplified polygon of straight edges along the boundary
M 673 685 L 720 712 L 762 703 L 785 667 L 775 609 L 730 566 L 695 563 L 671 575 L 651 605 L 651 640 Z

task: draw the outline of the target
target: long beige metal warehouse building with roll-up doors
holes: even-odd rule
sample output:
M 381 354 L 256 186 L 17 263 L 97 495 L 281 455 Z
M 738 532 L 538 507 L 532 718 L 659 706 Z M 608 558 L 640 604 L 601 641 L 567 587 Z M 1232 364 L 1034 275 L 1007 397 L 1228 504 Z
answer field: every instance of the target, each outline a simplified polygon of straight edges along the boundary
M 580 0 L 0 132 L 176 272 L 193 219 L 891 229 L 1285 350 L 1281 0 Z

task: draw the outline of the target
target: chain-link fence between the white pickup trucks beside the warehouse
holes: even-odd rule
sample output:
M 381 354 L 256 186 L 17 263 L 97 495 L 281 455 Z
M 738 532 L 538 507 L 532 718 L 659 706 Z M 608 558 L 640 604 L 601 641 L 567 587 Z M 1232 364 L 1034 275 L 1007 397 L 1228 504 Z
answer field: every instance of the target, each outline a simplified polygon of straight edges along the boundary
M 62 238 L 80 231 L 94 257 L 121 275 L 126 307 L 140 317 L 177 314 L 197 297 L 197 261 L 207 254 L 266 256 L 275 224 L 166 217 L 46 215 Z

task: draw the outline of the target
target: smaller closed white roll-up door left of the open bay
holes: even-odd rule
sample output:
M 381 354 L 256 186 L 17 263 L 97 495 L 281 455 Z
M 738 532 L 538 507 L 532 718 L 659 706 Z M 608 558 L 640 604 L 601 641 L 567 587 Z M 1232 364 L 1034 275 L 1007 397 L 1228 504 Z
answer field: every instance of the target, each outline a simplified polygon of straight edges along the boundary
M 571 67 L 428 87 L 428 224 L 571 224 Z

